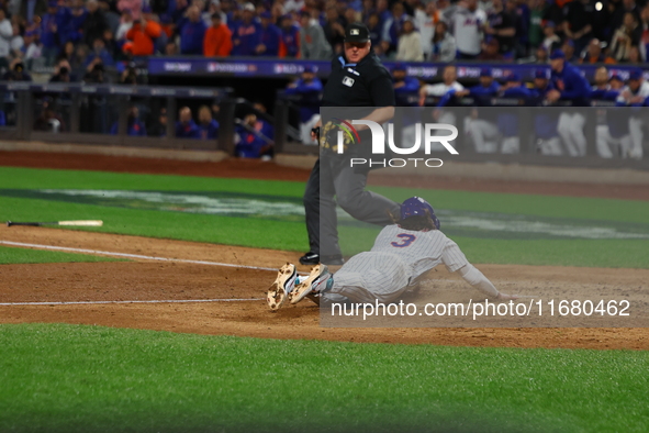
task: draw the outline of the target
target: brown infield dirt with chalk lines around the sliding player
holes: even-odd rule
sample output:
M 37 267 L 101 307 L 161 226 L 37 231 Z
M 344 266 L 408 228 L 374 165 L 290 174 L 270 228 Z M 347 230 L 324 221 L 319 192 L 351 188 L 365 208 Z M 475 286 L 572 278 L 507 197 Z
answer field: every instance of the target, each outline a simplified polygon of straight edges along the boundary
M 168 258 L 278 268 L 298 253 L 44 227 L 0 227 L 0 240 Z M 647 291 L 649 270 L 479 265 L 503 291 L 531 293 L 612 286 Z M 302 271 L 309 268 L 300 267 Z M 418 296 L 444 299 L 463 281 L 438 267 Z M 441 344 L 456 346 L 649 349 L 649 329 L 321 327 L 310 301 L 269 311 L 262 300 L 275 273 L 175 262 L 0 265 L 0 302 L 248 299 L 201 303 L 2 306 L 1 323 L 64 322 L 270 338 Z M 462 288 L 470 293 L 470 287 Z

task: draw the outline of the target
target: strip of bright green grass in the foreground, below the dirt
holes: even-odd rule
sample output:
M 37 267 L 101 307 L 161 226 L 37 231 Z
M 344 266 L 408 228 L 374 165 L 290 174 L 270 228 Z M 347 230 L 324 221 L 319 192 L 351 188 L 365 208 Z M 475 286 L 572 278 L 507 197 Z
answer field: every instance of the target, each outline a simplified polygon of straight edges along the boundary
M 0 431 L 646 432 L 649 353 L 0 325 Z

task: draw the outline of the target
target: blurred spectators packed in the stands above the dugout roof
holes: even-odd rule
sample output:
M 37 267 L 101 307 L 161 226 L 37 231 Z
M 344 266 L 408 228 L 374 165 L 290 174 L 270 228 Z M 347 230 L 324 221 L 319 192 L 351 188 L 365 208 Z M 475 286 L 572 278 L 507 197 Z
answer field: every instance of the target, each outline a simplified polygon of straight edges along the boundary
M 0 0 L 0 68 L 86 80 L 118 67 L 137 82 L 138 56 L 327 59 L 355 21 L 404 62 L 547 62 L 561 47 L 569 62 L 638 64 L 649 48 L 649 5 L 634 0 Z

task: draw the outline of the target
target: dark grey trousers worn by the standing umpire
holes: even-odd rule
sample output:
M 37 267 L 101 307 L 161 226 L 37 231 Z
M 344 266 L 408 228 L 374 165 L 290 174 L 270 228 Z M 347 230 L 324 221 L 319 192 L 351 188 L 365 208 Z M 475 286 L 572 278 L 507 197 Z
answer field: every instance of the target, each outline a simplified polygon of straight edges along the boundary
M 304 191 L 309 246 L 321 257 L 340 256 L 336 201 L 357 220 L 371 224 L 392 223 L 400 206 L 378 193 L 366 191 L 367 171 L 349 166 L 349 157 L 324 153 L 315 163 Z M 334 199 L 335 197 L 335 199 Z

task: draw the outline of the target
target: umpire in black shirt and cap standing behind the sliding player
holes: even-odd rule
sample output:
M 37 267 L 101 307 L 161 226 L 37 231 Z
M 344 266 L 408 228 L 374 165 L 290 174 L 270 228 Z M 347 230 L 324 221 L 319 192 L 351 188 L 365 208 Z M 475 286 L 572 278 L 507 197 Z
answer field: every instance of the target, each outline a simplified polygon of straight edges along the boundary
M 351 108 L 342 111 L 348 123 L 351 120 L 384 123 L 394 115 L 392 78 L 372 52 L 365 24 L 351 23 L 345 29 L 344 55 L 332 60 L 322 107 Z M 336 201 L 355 219 L 379 225 L 390 224 L 389 212 L 398 212 L 400 208 L 382 196 L 366 191 L 367 168 L 360 170 L 349 165 L 350 157 L 369 156 L 371 134 L 367 126 L 355 125 L 359 143 L 350 144 L 344 155 L 334 149 L 334 123 L 321 119 L 315 126 L 313 136 L 321 144 L 321 156 L 304 192 L 310 252 L 300 258 L 300 263 L 342 265 Z

